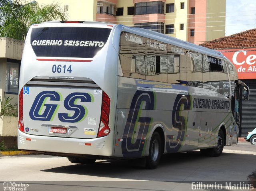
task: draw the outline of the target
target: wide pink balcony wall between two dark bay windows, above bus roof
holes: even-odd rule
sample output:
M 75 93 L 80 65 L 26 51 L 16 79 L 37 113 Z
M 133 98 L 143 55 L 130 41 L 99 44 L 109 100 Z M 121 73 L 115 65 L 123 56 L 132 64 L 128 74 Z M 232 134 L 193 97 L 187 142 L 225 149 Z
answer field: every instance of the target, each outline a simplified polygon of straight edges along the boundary
M 132 23 L 162 22 L 165 23 L 165 14 L 134 15 Z

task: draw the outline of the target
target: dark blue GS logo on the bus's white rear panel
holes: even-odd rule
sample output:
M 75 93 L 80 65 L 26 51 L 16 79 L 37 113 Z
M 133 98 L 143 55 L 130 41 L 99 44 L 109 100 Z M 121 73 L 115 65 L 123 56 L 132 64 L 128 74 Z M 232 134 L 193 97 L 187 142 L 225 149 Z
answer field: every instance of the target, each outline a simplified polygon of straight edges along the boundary
M 93 96 L 88 93 L 75 92 L 66 96 L 64 107 L 67 110 L 74 111 L 74 114 L 71 116 L 69 113 L 58 113 L 58 118 L 61 122 L 76 123 L 86 118 L 88 109 L 83 105 L 77 105 L 78 99 L 81 102 L 93 102 L 94 100 Z M 46 103 L 47 100 L 62 101 L 62 95 L 56 91 L 43 91 L 39 93 L 29 111 L 29 116 L 32 120 L 52 121 L 54 119 L 60 105 Z

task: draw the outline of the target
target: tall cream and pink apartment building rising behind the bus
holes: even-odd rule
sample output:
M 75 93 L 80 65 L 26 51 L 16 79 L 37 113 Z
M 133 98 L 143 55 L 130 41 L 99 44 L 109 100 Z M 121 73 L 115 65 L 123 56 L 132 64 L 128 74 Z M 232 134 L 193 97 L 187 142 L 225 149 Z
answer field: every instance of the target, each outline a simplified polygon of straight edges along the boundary
M 50 4 L 52 0 L 37 0 Z M 123 24 L 195 44 L 225 35 L 226 0 L 60 0 L 69 20 Z

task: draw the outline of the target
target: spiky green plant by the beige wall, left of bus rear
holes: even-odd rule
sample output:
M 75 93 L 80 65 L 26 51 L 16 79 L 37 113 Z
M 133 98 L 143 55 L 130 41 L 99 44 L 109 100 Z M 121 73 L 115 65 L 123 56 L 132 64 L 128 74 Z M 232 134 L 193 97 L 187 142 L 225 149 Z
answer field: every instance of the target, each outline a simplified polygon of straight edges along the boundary
M 10 101 L 13 98 L 5 97 L 4 94 L 4 100 L 1 99 L 0 96 L 0 104 L 1 104 L 1 110 L 0 110 L 0 116 L 6 115 L 6 116 L 18 116 L 18 108 L 17 104 L 13 105 Z

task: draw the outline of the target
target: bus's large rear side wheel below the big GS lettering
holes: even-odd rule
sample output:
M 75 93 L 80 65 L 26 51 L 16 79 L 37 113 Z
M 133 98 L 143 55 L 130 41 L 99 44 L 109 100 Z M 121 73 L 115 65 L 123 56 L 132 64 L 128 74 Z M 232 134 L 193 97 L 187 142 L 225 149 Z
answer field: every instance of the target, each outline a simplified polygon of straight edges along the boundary
M 146 157 L 146 168 L 155 169 L 160 161 L 162 156 L 162 145 L 161 139 L 158 132 L 154 132 L 149 147 L 149 154 Z

